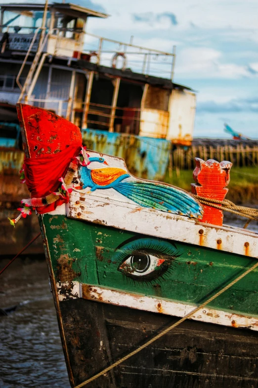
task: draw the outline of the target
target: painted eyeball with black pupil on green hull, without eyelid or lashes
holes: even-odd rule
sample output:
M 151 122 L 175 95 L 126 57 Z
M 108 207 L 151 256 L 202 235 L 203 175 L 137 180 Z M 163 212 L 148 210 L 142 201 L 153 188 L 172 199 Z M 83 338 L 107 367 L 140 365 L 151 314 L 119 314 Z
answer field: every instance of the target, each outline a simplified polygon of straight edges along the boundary
M 160 267 L 165 259 L 160 259 L 154 255 L 136 252 L 129 256 L 120 266 L 120 270 L 134 276 L 148 275 Z

